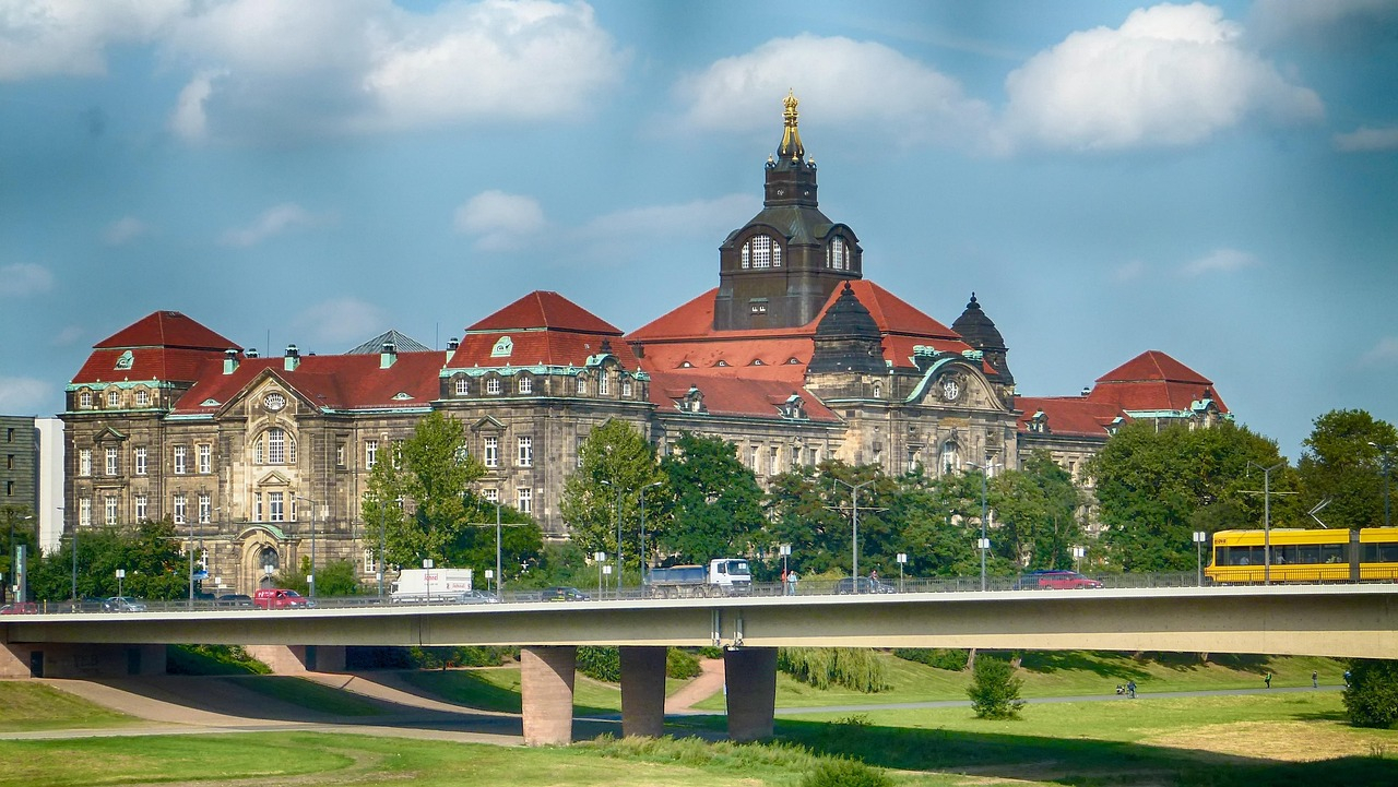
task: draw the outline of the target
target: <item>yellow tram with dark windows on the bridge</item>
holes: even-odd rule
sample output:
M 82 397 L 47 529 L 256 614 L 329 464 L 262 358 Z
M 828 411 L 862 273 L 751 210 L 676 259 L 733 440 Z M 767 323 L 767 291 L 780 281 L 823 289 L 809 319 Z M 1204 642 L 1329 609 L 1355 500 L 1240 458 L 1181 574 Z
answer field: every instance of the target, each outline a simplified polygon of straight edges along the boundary
M 1205 575 L 1219 584 L 1261 583 L 1267 573 L 1261 530 L 1213 534 Z M 1272 582 L 1398 580 L 1398 527 L 1293 530 L 1271 533 Z

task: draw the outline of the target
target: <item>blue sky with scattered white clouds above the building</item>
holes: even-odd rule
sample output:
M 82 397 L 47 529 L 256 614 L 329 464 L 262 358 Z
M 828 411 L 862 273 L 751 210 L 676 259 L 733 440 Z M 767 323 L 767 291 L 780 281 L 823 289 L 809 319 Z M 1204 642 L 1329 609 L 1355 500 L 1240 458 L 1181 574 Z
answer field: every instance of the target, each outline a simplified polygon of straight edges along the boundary
M 0 414 L 169 309 L 445 347 L 717 285 L 800 99 L 864 274 L 1025 396 L 1146 349 L 1297 459 L 1398 422 L 1398 1 L 0 0 Z

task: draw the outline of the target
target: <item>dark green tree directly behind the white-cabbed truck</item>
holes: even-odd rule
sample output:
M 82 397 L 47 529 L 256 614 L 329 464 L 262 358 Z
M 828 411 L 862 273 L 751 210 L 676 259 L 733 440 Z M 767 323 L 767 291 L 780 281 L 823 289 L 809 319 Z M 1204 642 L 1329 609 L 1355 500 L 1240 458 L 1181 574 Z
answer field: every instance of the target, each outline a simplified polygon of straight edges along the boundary
M 710 558 L 748 554 L 766 520 L 762 489 L 752 471 L 738 461 L 737 447 L 721 438 L 685 432 L 675 449 L 660 461 L 674 498 L 670 516 L 654 520 L 660 526 L 654 538 L 657 556 L 707 563 Z M 654 499 L 660 502 L 661 495 Z

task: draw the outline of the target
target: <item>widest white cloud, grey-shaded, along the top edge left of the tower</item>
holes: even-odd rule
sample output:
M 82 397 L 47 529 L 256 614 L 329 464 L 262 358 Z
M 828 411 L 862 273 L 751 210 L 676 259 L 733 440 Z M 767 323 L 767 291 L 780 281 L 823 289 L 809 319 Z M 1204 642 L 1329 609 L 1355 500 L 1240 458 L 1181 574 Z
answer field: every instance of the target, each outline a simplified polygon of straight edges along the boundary
M 628 56 L 584 3 L 235 0 L 164 41 L 196 75 L 171 126 L 267 138 L 558 119 L 596 106 Z M 211 78 L 210 75 L 218 78 Z

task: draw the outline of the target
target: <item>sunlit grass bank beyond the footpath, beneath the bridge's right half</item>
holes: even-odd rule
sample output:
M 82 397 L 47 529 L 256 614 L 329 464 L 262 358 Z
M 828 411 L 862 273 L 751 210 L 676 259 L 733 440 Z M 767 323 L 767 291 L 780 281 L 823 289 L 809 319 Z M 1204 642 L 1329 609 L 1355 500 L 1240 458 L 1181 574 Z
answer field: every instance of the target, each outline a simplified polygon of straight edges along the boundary
M 1089 696 L 1110 695 L 1117 684 L 1135 681 L 1139 693 L 1186 692 L 1208 689 L 1262 688 L 1262 675 L 1274 674 L 1272 685 L 1309 686 L 1311 670 L 1320 672 L 1321 685 L 1339 685 L 1345 667 L 1332 658 L 1216 656 L 1201 664 L 1192 654 L 1151 654 L 1137 660 L 1125 653 L 1107 651 L 1044 651 L 1026 653 L 1016 672 L 1023 678 L 1023 696 Z M 970 684 L 967 672 L 938 670 L 925 664 L 879 653 L 889 689 L 863 693 L 851 689 L 826 691 L 793 681 L 777 674 L 777 707 L 818 707 L 826 705 L 881 705 L 903 702 L 963 700 Z M 698 710 L 721 712 L 723 695 L 714 695 L 695 705 Z

